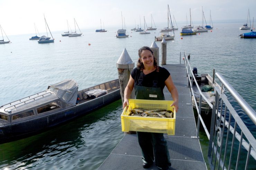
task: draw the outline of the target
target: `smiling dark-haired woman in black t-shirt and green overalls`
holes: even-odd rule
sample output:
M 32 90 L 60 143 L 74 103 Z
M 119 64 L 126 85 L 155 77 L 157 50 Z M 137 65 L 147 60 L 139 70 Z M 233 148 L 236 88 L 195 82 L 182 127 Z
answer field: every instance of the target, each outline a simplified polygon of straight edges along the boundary
M 179 95 L 170 73 L 157 66 L 153 51 L 149 47 L 139 49 L 137 68 L 132 70 L 124 92 L 123 108 L 129 105 L 128 99 L 135 88 L 135 99 L 164 100 L 164 87 L 172 94 L 176 112 L 178 111 Z M 143 167 L 149 168 L 154 163 L 157 168 L 167 170 L 171 167 L 167 142 L 163 133 L 137 132 L 138 142 L 143 154 Z M 155 155 L 155 156 L 154 156 Z

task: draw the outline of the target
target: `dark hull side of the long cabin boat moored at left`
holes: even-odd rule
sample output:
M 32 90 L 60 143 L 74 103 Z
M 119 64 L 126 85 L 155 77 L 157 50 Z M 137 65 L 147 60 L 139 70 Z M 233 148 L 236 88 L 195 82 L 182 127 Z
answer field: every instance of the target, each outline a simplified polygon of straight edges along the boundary
M 84 116 L 120 98 L 120 88 L 117 88 L 101 97 L 77 104 L 65 110 L 46 113 L 37 119 L 0 124 L 0 143 L 18 140 L 49 130 L 74 118 Z

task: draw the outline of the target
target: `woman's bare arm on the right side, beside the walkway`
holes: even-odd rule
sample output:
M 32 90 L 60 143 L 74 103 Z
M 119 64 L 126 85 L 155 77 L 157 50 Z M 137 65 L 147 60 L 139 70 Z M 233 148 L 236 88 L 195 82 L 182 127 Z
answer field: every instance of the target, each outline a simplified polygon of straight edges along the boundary
M 172 81 L 171 75 L 165 80 L 165 86 L 167 87 L 168 91 L 172 94 L 173 103 L 171 106 L 174 106 L 177 112 L 179 109 L 179 94 Z

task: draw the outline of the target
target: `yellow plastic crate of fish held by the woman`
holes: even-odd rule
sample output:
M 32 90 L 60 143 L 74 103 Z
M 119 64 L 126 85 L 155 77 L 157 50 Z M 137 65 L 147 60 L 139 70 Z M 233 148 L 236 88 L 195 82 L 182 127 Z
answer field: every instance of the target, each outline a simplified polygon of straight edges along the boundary
M 165 109 L 173 110 L 171 100 L 139 100 L 129 99 L 129 106 L 126 107 L 121 114 L 122 131 L 139 131 L 175 134 L 176 111 L 174 109 L 173 118 L 154 118 L 154 117 L 138 117 L 128 116 L 131 109 L 143 108 L 146 110 Z

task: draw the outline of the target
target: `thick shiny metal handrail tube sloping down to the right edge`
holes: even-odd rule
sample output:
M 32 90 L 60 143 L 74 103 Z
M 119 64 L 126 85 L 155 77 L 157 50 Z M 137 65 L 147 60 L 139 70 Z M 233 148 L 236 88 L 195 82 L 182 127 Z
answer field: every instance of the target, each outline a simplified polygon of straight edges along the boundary
M 221 76 L 220 73 L 216 72 L 216 76 L 221 81 L 221 83 L 228 89 L 230 94 L 236 99 L 238 104 L 243 108 L 249 118 L 256 124 L 256 112 L 252 107 L 240 96 L 240 94 L 227 82 L 225 78 Z

